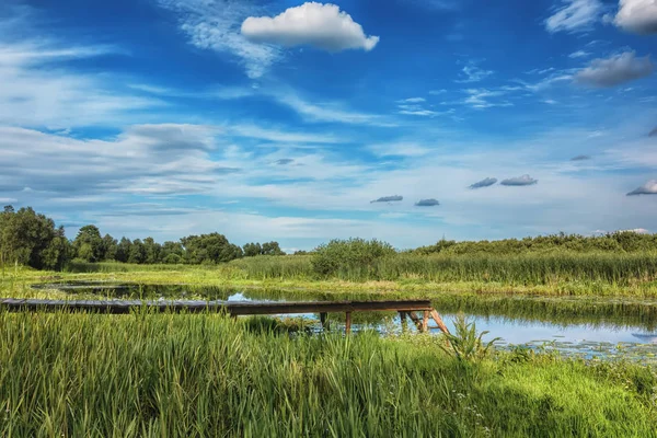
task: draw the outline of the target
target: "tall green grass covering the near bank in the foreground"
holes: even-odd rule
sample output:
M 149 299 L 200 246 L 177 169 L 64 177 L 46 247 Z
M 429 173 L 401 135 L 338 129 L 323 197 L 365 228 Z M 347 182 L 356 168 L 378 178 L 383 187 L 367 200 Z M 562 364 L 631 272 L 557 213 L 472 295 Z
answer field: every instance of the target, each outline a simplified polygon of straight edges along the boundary
M 1 436 L 655 436 L 649 368 L 210 315 L 0 313 Z

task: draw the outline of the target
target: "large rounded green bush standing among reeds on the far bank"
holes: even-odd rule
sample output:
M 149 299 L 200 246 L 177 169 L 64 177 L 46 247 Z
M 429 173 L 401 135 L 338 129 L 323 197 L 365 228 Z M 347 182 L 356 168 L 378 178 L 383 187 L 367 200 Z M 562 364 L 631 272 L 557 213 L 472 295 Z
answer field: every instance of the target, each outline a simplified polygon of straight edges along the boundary
M 311 263 L 321 277 L 377 278 L 377 263 L 396 254 L 392 245 L 378 240 L 332 240 L 314 251 Z

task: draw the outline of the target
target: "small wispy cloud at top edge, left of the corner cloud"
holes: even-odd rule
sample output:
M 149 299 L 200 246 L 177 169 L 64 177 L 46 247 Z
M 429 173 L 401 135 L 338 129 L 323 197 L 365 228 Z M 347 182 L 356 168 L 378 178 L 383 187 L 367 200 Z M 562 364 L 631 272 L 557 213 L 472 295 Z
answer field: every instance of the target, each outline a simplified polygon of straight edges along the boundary
M 545 28 L 551 33 L 588 31 L 602 13 L 599 0 L 562 0 L 545 20 Z

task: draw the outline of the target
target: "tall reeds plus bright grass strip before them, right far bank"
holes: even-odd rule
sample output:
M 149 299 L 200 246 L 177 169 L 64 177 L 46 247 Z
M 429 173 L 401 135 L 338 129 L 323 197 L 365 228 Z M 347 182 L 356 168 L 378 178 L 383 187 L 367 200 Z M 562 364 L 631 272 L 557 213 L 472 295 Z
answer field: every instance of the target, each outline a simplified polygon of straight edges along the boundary
M 657 254 L 550 252 L 527 254 L 399 253 L 367 266 L 335 261 L 331 275 L 313 269 L 313 256 L 251 257 L 231 262 L 232 278 L 276 281 L 346 281 L 379 288 L 470 289 L 550 295 L 657 297 Z M 226 275 L 226 274 L 224 274 Z M 392 285 L 385 285 L 385 284 Z

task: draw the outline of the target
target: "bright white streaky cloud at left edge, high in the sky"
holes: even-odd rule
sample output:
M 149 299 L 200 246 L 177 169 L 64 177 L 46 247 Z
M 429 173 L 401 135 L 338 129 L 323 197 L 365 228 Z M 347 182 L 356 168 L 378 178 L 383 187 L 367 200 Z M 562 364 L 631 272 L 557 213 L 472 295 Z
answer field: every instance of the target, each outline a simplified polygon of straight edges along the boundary
M 0 123 L 70 127 L 108 125 L 128 114 L 164 107 L 160 99 L 116 90 L 118 80 L 72 71 L 71 59 L 120 55 L 111 46 L 70 46 L 64 42 L 3 42 L 0 36 Z

